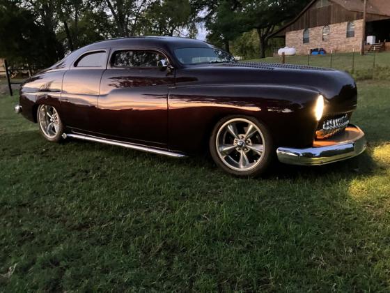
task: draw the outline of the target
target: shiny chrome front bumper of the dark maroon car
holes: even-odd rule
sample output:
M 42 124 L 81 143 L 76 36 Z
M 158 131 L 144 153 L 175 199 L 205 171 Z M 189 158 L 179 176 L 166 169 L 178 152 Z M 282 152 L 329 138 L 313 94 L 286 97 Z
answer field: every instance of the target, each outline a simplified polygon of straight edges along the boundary
M 325 165 L 353 158 L 366 149 L 366 137 L 357 126 L 350 124 L 343 133 L 327 140 L 317 140 L 313 147 L 294 149 L 279 147 L 276 150 L 281 163 L 292 165 Z

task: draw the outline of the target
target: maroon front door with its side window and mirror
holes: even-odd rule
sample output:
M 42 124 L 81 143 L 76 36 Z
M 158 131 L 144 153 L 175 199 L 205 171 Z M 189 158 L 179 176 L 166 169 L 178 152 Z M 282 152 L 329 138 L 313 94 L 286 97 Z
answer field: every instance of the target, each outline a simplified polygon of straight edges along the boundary
M 164 147 L 168 136 L 169 87 L 175 83 L 167 58 L 156 50 L 111 50 L 100 84 L 100 131 L 139 144 Z

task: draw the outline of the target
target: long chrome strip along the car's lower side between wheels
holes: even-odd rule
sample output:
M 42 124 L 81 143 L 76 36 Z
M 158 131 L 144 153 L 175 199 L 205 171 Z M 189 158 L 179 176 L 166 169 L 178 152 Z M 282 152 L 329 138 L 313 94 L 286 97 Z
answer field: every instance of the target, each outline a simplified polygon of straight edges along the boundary
M 164 151 L 162 149 L 155 149 L 153 147 L 143 147 L 138 144 L 131 144 L 129 142 L 120 142 L 118 140 L 107 140 L 102 137 L 95 137 L 91 135 L 80 135 L 75 133 L 64 133 L 62 137 L 76 138 L 77 140 L 87 140 L 88 142 L 100 142 L 102 144 L 111 144 L 118 147 L 125 147 L 127 149 L 135 149 L 137 151 L 146 151 L 148 153 L 158 153 L 159 155 L 169 156 L 173 158 L 184 158 L 186 155 L 184 153 L 176 153 L 173 151 Z

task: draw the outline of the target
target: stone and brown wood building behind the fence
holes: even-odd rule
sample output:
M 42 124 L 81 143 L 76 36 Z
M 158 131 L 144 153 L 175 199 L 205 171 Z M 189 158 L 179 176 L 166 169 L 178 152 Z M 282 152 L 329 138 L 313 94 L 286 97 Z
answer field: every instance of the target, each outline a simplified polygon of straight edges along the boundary
M 364 0 L 313 0 L 272 38 L 285 38 L 297 54 L 360 51 L 363 40 L 366 51 L 390 50 L 390 0 L 366 0 L 365 20 L 364 10 Z

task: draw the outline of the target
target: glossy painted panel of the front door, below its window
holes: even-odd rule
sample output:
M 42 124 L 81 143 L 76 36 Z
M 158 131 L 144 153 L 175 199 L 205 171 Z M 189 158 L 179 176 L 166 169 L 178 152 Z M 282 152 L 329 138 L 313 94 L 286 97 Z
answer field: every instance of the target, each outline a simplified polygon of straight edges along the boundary
M 166 145 L 167 98 L 174 81 L 173 75 L 158 68 L 106 70 L 98 103 L 104 121 L 99 132 Z

